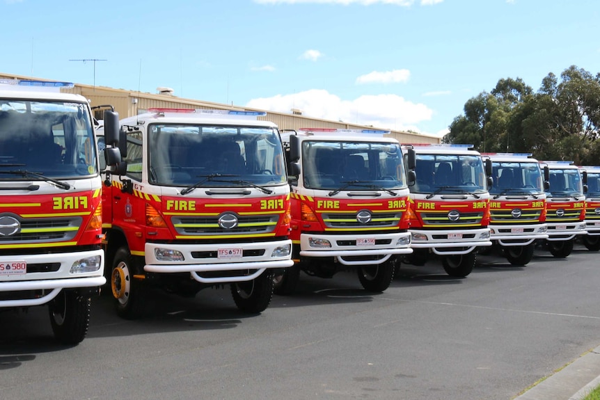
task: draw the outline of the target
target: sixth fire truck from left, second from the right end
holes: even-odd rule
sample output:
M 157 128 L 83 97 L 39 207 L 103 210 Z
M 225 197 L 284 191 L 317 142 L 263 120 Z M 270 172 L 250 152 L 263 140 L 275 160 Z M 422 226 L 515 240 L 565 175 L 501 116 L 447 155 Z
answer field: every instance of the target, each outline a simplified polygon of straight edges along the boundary
M 565 258 L 573 250 L 575 238 L 585 235 L 585 175 L 573 161 L 542 161 L 549 170 L 546 189 L 546 225 L 548 250 L 554 257 Z

